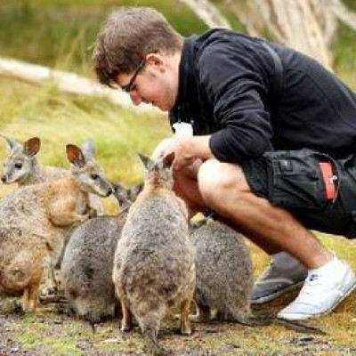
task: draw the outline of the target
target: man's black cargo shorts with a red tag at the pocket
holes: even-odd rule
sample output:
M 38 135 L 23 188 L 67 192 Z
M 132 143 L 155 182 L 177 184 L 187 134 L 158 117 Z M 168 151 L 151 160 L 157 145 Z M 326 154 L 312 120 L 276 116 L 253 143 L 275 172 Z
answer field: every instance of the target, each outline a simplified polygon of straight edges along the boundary
M 330 166 L 330 176 L 320 163 Z M 242 169 L 255 195 L 286 208 L 306 228 L 356 238 L 356 155 L 334 159 L 312 150 L 274 151 Z

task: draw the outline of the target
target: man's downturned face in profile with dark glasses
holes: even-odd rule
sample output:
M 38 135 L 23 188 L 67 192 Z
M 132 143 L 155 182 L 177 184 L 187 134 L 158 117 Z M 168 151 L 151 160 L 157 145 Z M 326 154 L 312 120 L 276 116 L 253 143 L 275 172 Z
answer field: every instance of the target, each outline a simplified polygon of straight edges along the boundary
M 152 53 L 142 63 L 131 73 L 120 73 L 117 85 L 126 88 L 134 105 L 145 102 L 164 111 L 172 109 L 178 93 L 174 62 L 169 57 Z

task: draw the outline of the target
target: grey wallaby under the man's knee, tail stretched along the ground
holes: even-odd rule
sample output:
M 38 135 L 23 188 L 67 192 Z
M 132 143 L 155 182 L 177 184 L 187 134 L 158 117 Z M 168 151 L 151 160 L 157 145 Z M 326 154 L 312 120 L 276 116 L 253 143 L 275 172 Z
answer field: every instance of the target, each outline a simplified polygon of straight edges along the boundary
M 226 320 L 247 326 L 276 322 L 297 331 L 323 334 L 320 329 L 299 322 L 280 320 L 273 315 L 253 315 L 253 263 L 245 240 L 221 222 L 206 221 L 197 226 L 190 228 L 197 271 L 195 302 L 198 314 L 193 320 Z

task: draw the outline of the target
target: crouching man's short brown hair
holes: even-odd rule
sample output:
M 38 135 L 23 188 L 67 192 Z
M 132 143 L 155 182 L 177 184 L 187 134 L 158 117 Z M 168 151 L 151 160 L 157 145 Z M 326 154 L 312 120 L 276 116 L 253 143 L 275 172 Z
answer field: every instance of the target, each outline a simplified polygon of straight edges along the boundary
M 130 73 L 148 53 L 173 54 L 182 50 L 182 36 L 158 11 L 125 7 L 112 12 L 97 37 L 93 51 L 96 75 L 112 86 L 119 73 Z

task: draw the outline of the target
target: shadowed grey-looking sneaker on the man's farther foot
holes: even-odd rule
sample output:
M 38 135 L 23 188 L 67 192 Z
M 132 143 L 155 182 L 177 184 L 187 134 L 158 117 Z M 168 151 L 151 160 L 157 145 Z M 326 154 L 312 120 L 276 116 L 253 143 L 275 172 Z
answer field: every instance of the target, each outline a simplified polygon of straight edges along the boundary
M 306 267 L 286 252 L 272 255 L 271 263 L 255 281 L 251 303 L 270 302 L 303 286 L 308 274 Z

